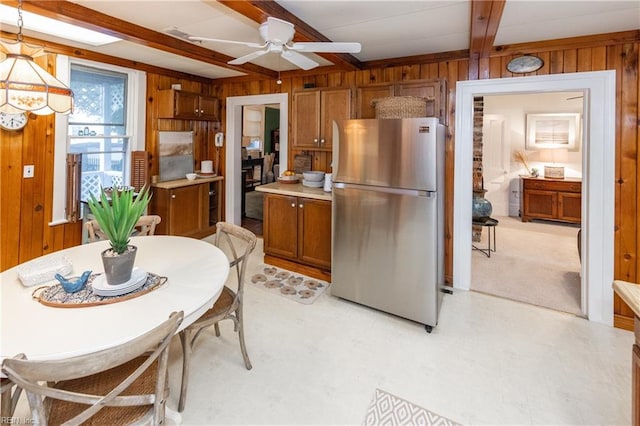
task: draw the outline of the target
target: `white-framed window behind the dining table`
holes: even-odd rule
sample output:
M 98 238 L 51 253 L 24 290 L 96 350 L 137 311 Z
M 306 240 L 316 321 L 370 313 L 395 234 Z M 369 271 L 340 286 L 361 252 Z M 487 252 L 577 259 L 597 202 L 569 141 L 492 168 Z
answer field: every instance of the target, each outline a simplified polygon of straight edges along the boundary
M 146 126 L 144 72 L 58 55 L 56 77 L 73 90 L 74 109 L 55 117 L 50 225 L 66 222 L 67 153 L 82 154 L 82 200 L 100 185 L 130 185 L 131 152 L 145 149 Z

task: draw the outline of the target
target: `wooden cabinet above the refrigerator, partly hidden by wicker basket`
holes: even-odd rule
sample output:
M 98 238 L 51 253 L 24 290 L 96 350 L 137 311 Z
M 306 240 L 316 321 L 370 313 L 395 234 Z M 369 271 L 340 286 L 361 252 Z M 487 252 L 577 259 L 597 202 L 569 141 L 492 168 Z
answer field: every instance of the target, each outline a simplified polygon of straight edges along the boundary
M 356 118 L 376 118 L 374 99 L 390 96 L 416 96 L 429 99 L 427 117 L 438 117 L 447 124 L 447 83 L 445 80 L 410 80 L 400 83 L 369 84 L 356 90 Z

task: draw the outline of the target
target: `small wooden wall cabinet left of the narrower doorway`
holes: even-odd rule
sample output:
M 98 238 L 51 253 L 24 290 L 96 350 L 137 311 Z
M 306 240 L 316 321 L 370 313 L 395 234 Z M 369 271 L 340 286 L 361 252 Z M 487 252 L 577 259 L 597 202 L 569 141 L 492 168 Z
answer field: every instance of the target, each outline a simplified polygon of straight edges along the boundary
M 219 102 L 213 96 L 182 90 L 159 90 L 157 93 L 158 118 L 184 120 L 219 120 Z

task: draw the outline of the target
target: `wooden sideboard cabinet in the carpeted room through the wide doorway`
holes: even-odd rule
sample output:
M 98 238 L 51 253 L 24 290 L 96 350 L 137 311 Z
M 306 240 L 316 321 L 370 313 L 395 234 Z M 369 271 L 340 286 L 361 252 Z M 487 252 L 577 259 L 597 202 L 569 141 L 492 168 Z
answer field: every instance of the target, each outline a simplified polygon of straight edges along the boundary
M 580 224 L 582 182 L 577 179 L 521 178 L 523 222 L 545 219 Z

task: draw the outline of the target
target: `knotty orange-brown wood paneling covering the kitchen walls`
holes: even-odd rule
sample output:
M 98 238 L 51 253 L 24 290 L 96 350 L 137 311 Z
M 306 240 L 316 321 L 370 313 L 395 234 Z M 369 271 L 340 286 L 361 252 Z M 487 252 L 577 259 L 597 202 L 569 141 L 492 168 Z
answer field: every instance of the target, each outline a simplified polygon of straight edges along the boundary
M 640 43 L 612 39 L 603 43 L 581 41 L 575 48 L 545 50 L 543 43 L 536 43 L 536 52 L 545 65 L 537 75 L 561 74 L 584 71 L 615 70 L 616 84 L 616 186 L 615 191 L 615 265 L 616 279 L 630 282 L 640 281 L 640 167 L 638 139 L 640 116 L 638 98 Z M 49 55 L 46 65 L 51 70 Z M 469 60 L 452 60 L 406 66 L 365 69 L 361 71 L 317 73 L 307 76 L 282 76 L 282 84 L 275 80 L 238 82 L 213 82 L 210 86 L 194 78 L 177 80 L 159 74 L 148 74 L 147 80 L 147 150 L 151 152 L 151 174 L 158 174 L 157 130 L 193 130 L 196 133 L 194 147 L 196 166 L 202 159 L 215 158 L 213 133 L 216 125 L 199 121 L 157 119 L 153 104 L 154 92 L 166 89 L 171 84 L 182 84 L 183 90 L 216 95 L 221 100 L 222 126 L 226 117 L 225 100 L 228 96 L 245 96 L 269 93 L 288 93 L 302 88 L 305 83 L 316 87 L 351 87 L 370 83 L 398 82 L 415 79 L 445 78 L 448 82 L 449 127 L 446 146 L 446 272 L 452 275 L 452 227 L 453 227 L 453 159 L 455 154 L 455 87 L 456 82 L 472 79 L 513 77 L 506 70 L 509 55 L 483 58 L 478 63 Z M 41 63 L 42 65 L 42 63 Z M 291 97 L 289 98 L 291 100 Z M 289 123 L 291 124 L 291 117 Z M 224 130 L 224 129 L 223 129 Z M 290 132 L 290 129 L 289 129 Z M 291 132 L 289 133 L 291 134 Z M 51 194 L 53 188 L 53 117 L 31 116 L 27 127 L 21 132 L 0 133 L 0 269 L 4 270 L 19 262 L 39 255 L 80 243 L 79 224 L 50 227 Z M 225 147 L 226 148 L 226 147 Z M 289 152 L 293 156 L 294 151 Z M 328 157 L 314 160 L 328 168 Z M 35 177 L 22 178 L 22 167 L 34 164 Z M 220 157 L 221 172 L 224 170 L 224 149 Z M 469 176 L 469 179 L 472 177 Z M 615 325 L 631 328 L 633 313 L 616 296 L 614 301 Z

